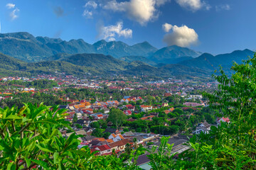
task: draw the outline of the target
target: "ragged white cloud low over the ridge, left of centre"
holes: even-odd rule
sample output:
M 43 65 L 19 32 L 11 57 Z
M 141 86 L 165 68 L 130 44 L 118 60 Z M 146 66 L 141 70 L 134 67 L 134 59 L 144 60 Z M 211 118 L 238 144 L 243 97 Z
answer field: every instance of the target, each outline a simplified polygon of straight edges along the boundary
M 119 22 L 115 26 L 101 26 L 100 37 L 109 41 L 115 40 L 115 37 L 132 38 L 132 30 L 129 28 L 123 29 L 123 23 Z

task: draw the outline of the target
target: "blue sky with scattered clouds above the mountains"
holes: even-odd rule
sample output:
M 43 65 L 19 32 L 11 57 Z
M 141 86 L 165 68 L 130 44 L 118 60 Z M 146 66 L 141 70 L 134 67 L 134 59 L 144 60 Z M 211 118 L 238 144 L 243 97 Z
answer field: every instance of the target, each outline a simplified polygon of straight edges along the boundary
M 148 41 L 217 55 L 256 50 L 255 0 L 1 0 L 1 33 Z

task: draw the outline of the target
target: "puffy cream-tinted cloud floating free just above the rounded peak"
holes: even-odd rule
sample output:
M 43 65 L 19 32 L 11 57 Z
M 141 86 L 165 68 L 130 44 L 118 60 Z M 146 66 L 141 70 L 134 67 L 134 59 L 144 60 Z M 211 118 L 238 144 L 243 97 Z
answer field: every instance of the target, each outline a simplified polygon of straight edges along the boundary
M 165 23 L 163 29 L 164 31 L 171 30 L 171 33 L 164 35 L 163 41 L 166 42 L 167 45 L 188 47 L 198 43 L 198 34 L 192 28 L 188 28 L 187 26 L 172 26 L 169 23 Z

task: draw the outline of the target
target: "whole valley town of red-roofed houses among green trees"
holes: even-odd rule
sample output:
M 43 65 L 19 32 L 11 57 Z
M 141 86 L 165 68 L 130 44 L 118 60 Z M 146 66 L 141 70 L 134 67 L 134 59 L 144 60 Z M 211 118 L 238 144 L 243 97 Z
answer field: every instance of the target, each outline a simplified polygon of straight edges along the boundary
M 144 81 L 137 77 L 114 76 L 79 79 L 61 75 L 2 77 L 0 106 L 45 103 L 65 109 L 73 130 L 63 129 L 63 137 L 80 135 L 79 147 L 88 146 L 96 155 L 117 154 L 128 159 L 131 149 L 139 151 L 137 165 L 146 169 L 149 159 L 143 148 L 160 145 L 170 136 L 173 151 L 188 149 L 184 143 L 193 135 L 208 133 L 210 127 L 229 123 L 216 118 L 202 91 L 213 91 L 217 81 L 166 79 Z

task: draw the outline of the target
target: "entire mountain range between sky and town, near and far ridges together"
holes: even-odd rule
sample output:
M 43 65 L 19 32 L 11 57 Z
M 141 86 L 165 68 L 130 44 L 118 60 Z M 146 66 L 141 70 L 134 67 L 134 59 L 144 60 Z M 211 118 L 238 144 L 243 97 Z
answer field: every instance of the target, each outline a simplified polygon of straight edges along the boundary
M 0 74 L 129 74 L 155 77 L 208 77 L 219 65 L 230 69 L 251 50 L 210 55 L 172 45 L 156 49 L 149 42 L 127 45 L 100 40 L 90 45 L 82 39 L 34 37 L 29 33 L 0 34 Z

